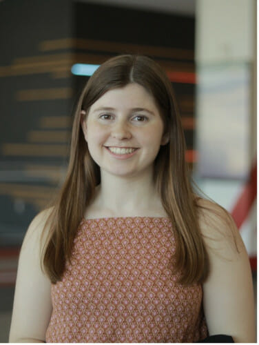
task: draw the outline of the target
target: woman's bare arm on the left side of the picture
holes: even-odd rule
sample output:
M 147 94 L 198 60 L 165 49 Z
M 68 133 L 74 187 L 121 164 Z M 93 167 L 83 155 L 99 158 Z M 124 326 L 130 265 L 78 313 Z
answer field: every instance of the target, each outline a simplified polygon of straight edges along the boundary
M 40 266 L 41 233 L 48 210 L 31 222 L 21 246 L 9 342 L 45 342 L 52 303 L 50 280 Z

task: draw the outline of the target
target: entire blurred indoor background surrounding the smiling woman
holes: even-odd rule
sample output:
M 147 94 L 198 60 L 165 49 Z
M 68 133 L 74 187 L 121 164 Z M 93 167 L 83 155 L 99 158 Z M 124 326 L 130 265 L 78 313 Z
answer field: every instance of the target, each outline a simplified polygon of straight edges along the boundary
M 121 53 L 167 72 L 186 160 L 234 217 L 256 296 L 256 0 L 1 0 L 0 45 L 0 342 L 25 231 L 65 176 L 76 97 Z

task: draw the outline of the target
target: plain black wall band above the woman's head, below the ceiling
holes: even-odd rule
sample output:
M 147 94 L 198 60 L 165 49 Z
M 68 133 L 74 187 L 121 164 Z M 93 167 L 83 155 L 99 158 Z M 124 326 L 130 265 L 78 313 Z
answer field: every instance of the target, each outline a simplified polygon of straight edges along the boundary
M 194 18 L 75 2 L 76 37 L 194 50 Z

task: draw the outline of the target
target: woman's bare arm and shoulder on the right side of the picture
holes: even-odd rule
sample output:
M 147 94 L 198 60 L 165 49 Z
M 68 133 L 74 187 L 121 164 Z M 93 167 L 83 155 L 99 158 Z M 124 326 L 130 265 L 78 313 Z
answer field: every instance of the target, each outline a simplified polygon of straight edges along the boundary
M 210 273 L 203 284 L 209 335 L 231 335 L 234 342 L 256 342 L 253 283 L 247 250 L 231 216 L 202 201 L 200 228 L 209 255 Z M 216 210 L 217 215 L 213 211 Z

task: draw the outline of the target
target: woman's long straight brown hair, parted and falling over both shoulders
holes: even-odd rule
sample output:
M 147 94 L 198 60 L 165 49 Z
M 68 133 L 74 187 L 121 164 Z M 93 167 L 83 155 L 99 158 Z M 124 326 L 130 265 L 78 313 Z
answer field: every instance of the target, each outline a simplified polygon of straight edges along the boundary
M 160 146 L 154 161 L 154 183 L 173 224 L 176 239 L 175 273 L 181 284 L 202 283 L 208 275 L 208 259 L 198 226 L 197 196 L 191 187 L 185 161 L 185 137 L 172 84 L 160 66 L 139 55 L 121 55 L 103 63 L 87 81 L 74 112 L 70 161 L 61 190 L 48 217 L 49 233 L 43 252 L 43 267 L 52 283 L 61 280 L 65 262 L 72 256 L 74 238 L 85 209 L 101 183 L 100 168 L 90 156 L 81 128 L 81 110 L 105 92 L 138 83 L 154 97 L 169 142 Z

